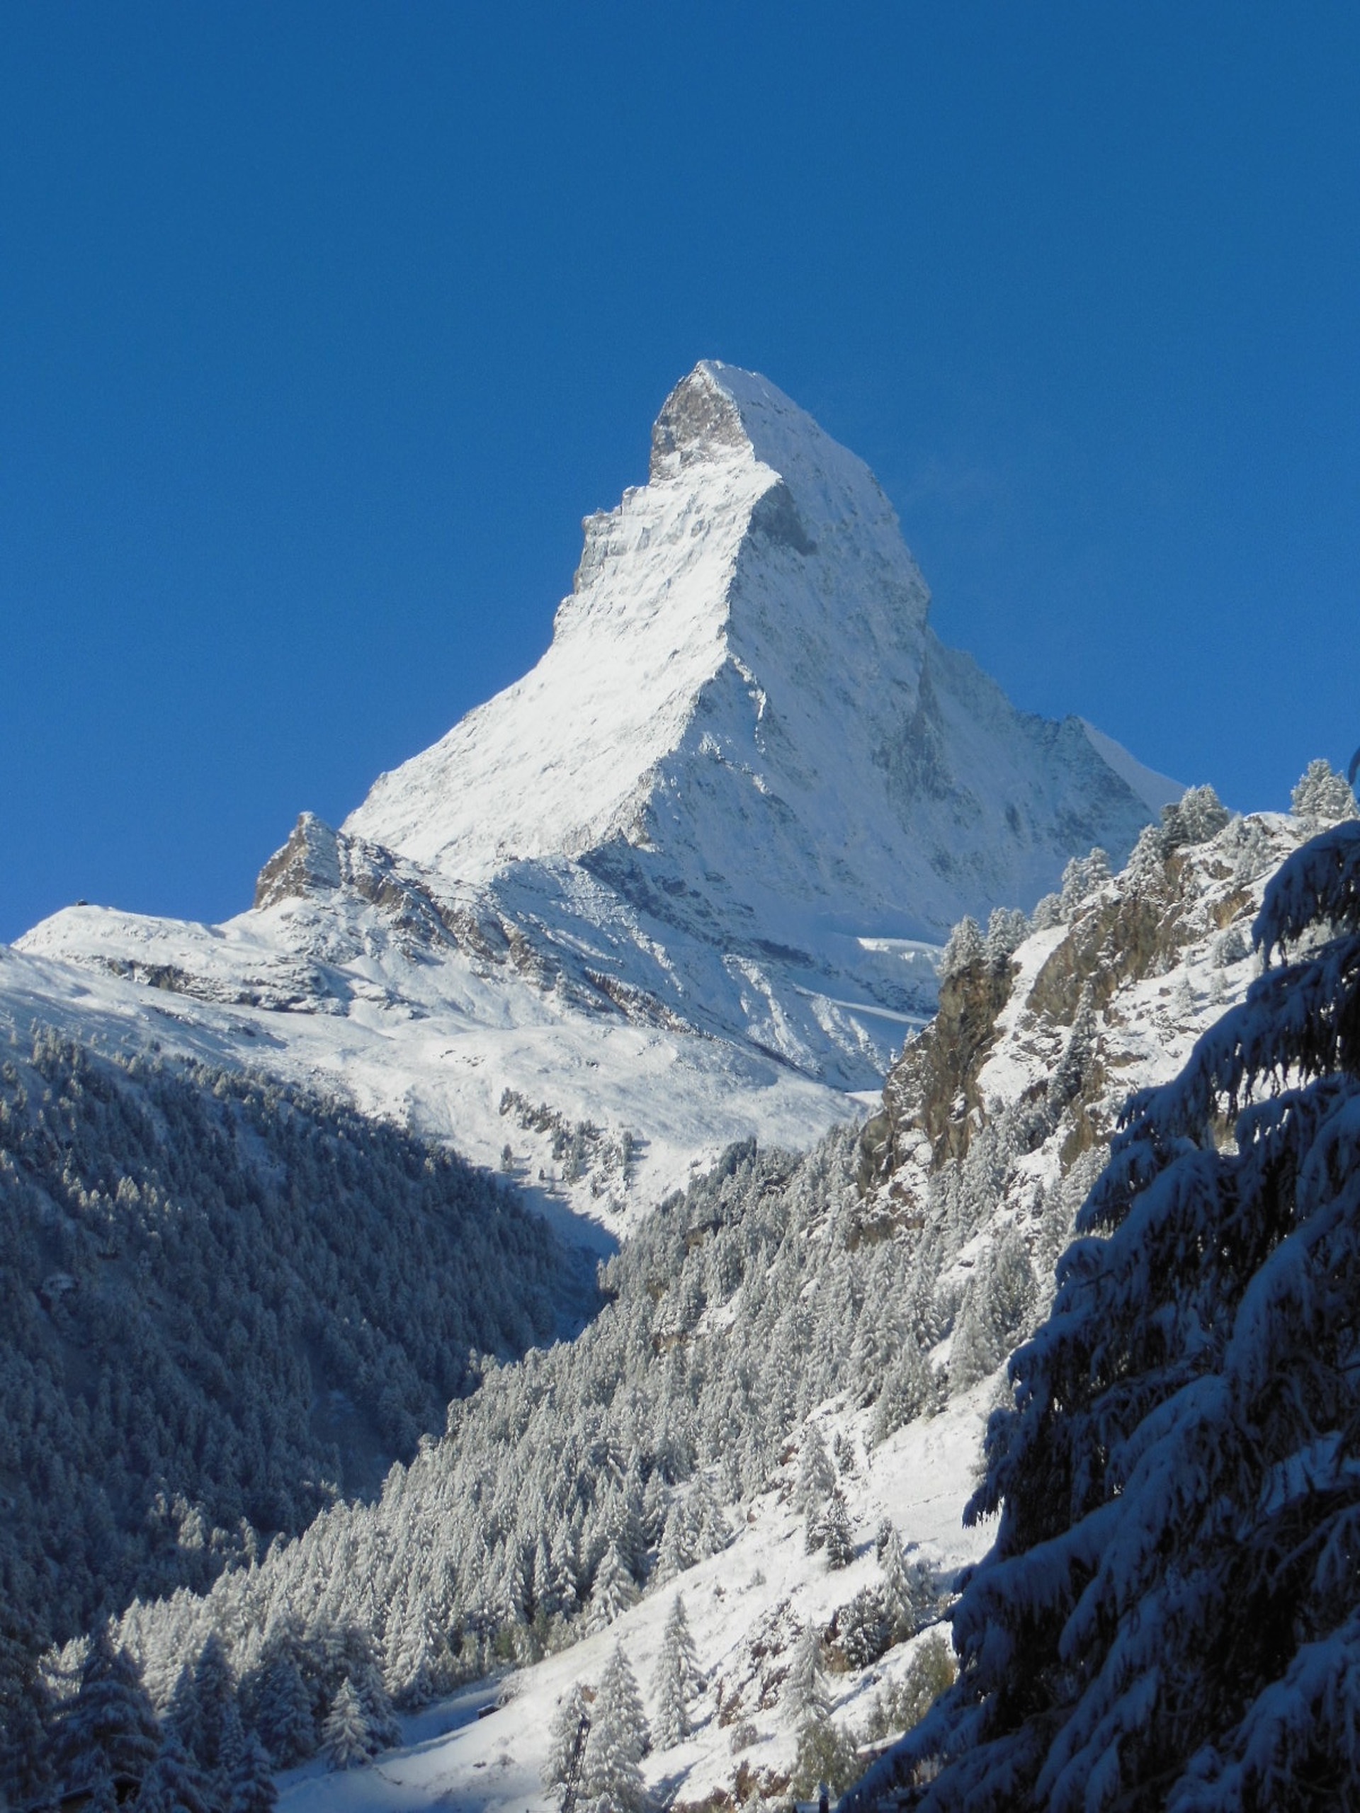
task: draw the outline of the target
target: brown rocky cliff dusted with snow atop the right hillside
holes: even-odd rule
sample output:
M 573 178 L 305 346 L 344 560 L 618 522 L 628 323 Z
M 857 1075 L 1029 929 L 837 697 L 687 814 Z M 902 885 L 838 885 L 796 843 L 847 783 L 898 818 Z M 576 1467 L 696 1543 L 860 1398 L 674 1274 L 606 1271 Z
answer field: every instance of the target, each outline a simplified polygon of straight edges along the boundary
M 1309 832 L 1229 819 L 1195 789 L 1119 876 L 1073 863 L 1019 941 L 956 937 L 939 1013 L 863 1131 L 865 1235 L 945 1240 L 967 1289 L 974 1260 L 1019 1233 L 1046 1284 L 1130 1093 L 1175 1075 L 1246 994 L 1264 885 Z

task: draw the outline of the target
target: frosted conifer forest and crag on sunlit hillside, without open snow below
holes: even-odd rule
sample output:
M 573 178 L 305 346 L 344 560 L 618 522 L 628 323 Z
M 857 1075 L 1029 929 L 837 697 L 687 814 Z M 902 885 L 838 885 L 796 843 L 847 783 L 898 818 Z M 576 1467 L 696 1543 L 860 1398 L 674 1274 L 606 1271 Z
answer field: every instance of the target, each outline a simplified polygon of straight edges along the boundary
M 1331 792 L 1340 816 L 1349 789 Z M 733 1148 L 640 1224 L 575 1342 L 488 1365 L 375 1503 L 334 1505 L 207 1594 L 132 1605 L 114 1639 L 154 1706 L 192 1728 L 207 1666 L 276 1764 L 341 1711 L 372 1751 L 390 1702 L 627 1619 L 733 1541 L 760 1494 L 809 1507 L 820 1566 L 861 1550 L 841 1487 L 865 1443 L 948 1423 L 1043 1318 L 1130 1086 L 1173 1073 L 1242 999 L 1246 928 L 1309 823 L 1229 818 L 1200 789 L 1121 876 L 1093 852 L 1032 919 L 963 923 L 941 1013 L 863 1133 L 803 1157 Z M 823 1441 L 829 1407 L 854 1440 Z M 914 1624 L 892 1599 L 885 1574 L 807 1641 L 869 1670 Z M 762 1695 L 782 1704 L 782 1679 Z M 847 1733 L 821 1717 L 843 1769 Z

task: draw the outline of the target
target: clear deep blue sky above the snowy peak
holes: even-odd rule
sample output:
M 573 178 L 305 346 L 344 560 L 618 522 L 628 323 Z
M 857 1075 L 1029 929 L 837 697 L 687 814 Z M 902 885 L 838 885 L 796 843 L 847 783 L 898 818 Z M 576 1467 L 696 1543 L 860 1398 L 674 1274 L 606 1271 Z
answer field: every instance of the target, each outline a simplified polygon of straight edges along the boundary
M 1360 742 L 1356 94 L 1353 4 L 7 5 L 0 939 L 245 906 L 704 355 L 1017 703 L 1286 805 Z

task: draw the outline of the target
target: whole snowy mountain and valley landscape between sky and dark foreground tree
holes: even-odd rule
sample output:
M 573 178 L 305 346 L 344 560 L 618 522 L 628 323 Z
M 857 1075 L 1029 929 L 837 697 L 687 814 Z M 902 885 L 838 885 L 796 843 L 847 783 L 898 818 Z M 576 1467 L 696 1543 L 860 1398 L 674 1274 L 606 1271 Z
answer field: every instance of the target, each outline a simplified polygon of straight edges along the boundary
M 0 946 L 13 1804 L 849 1788 L 1124 1097 L 1355 801 L 1295 809 L 1019 713 L 698 364 L 539 665 L 250 910 Z

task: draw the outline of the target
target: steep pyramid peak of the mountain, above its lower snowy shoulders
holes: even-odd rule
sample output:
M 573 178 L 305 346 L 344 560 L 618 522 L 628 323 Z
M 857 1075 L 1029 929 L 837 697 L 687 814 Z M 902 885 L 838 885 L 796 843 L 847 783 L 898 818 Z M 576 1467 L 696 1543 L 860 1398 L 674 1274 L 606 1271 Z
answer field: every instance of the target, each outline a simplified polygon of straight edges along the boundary
M 1015 713 L 927 611 L 869 468 L 705 361 L 649 482 L 586 520 L 539 665 L 345 829 L 459 879 L 578 858 L 662 919 L 805 950 L 937 937 L 1092 843 L 1122 856 L 1179 789 Z

